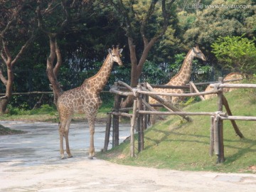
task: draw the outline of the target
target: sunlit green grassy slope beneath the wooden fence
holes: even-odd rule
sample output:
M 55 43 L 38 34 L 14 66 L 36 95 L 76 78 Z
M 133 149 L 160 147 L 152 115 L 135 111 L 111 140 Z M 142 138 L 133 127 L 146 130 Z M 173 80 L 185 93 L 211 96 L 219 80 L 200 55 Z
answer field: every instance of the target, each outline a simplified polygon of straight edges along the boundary
M 243 96 L 245 94 L 245 96 Z M 226 94 L 233 115 L 256 116 L 256 92 L 235 90 Z M 188 112 L 215 112 L 217 100 L 197 102 L 184 109 Z M 256 165 L 256 122 L 237 121 L 245 139 L 235 135 L 228 121 L 224 121 L 225 163 L 216 164 L 217 157 L 209 156 L 210 117 L 193 116 L 193 122 L 182 122 L 179 117 L 168 117 L 146 130 L 144 151 L 137 158 L 129 157 L 129 142 L 104 154 L 98 154 L 118 164 L 151 166 L 156 168 L 252 172 Z

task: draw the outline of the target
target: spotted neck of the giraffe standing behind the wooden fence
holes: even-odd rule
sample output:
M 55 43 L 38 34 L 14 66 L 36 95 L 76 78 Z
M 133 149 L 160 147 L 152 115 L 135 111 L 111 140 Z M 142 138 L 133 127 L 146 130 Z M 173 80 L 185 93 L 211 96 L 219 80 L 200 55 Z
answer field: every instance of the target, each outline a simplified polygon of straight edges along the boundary
M 181 70 L 179 70 L 179 72 L 174 75 L 166 85 L 185 85 L 188 83 L 191 78 L 193 58 L 193 52 L 192 50 L 189 50 L 185 60 L 183 61 Z

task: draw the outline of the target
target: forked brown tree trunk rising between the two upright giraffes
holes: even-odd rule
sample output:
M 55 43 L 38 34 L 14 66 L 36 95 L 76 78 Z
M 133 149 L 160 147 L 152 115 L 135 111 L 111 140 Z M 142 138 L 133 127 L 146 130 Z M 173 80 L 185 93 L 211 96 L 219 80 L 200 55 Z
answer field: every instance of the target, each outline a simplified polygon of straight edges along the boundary
M 164 33 L 166 32 L 167 27 L 169 26 L 169 20 L 171 17 L 171 5 L 174 4 L 175 0 L 171 0 L 168 1 L 168 3 L 166 4 L 166 0 L 162 0 L 161 1 L 161 10 L 162 10 L 162 16 L 163 16 L 163 23 L 162 26 L 156 31 L 156 33 L 154 34 L 154 36 L 152 36 L 151 38 L 147 37 L 146 35 L 146 26 L 149 25 L 150 20 L 151 20 L 151 16 L 154 13 L 155 7 L 156 7 L 156 3 L 158 2 L 157 0 L 154 1 L 150 1 L 150 6 L 149 9 L 147 10 L 146 14 L 144 14 L 144 16 L 139 19 L 139 33 L 142 37 L 143 43 L 144 43 L 144 50 L 143 53 L 141 55 L 141 58 L 139 58 L 139 63 L 137 61 L 137 57 L 136 57 L 136 47 L 134 45 L 134 38 L 135 38 L 135 34 L 137 31 L 135 28 L 133 28 L 133 24 L 132 21 L 135 19 L 137 19 L 136 14 L 133 10 L 133 6 L 134 6 L 134 2 L 131 1 L 131 4 L 129 7 L 127 7 L 126 4 L 124 4 L 122 1 L 113 1 L 113 0 L 108 0 L 110 2 L 110 4 L 112 6 L 114 6 L 114 8 L 117 10 L 118 14 L 120 16 L 122 16 L 122 18 L 124 19 L 124 31 L 126 31 L 127 33 L 127 37 L 128 37 L 128 44 L 129 44 L 129 52 L 130 52 L 130 59 L 131 59 L 131 63 L 132 63 L 132 72 L 131 72 L 131 87 L 136 87 L 138 82 L 139 82 L 139 77 L 142 74 L 142 68 L 143 65 L 145 63 L 145 60 L 149 54 L 149 50 L 152 48 L 152 46 L 154 46 L 154 43 L 156 42 L 156 40 L 158 38 L 160 38 L 161 36 L 164 35 Z M 152 23 L 151 23 L 152 24 Z M 137 26 L 136 26 L 137 28 Z M 139 35 L 137 33 L 137 35 Z M 150 39 L 150 41 L 149 41 Z M 129 107 L 129 105 L 132 105 L 133 99 L 132 97 L 127 97 L 126 100 L 124 100 L 124 102 L 121 103 L 121 107 Z

